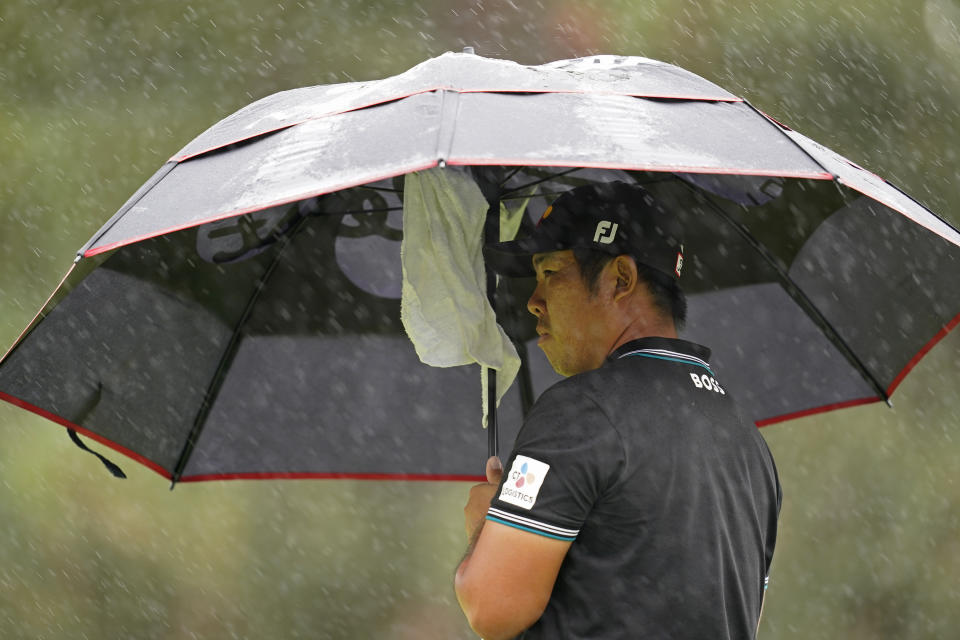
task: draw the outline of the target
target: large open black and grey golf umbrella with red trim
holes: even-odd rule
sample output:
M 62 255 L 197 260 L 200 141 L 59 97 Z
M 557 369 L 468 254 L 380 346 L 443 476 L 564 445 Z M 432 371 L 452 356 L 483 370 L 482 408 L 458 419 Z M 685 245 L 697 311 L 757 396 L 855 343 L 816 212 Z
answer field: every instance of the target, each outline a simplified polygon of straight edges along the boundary
M 80 250 L 0 397 L 174 482 L 475 478 L 477 367 L 422 364 L 400 314 L 405 176 L 437 168 L 476 183 L 488 239 L 501 204 L 529 228 L 574 186 L 645 185 L 686 230 L 684 337 L 758 426 L 889 401 L 960 322 L 956 229 L 720 87 L 645 58 L 450 53 L 190 142 Z M 531 283 L 488 280 L 523 361 L 509 441 L 557 377 Z

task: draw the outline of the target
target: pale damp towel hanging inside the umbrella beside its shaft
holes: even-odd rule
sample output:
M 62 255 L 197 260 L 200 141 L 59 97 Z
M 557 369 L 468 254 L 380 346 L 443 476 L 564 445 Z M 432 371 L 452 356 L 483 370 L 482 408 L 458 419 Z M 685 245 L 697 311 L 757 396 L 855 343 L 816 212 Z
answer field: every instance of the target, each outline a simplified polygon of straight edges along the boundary
M 501 228 L 510 235 L 525 204 L 513 211 L 501 205 Z M 498 372 L 498 404 L 520 368 L 487 300 L 482 254 L 487 209 L 480 188 L 462 170 L 428 169 L 404 181 L 400 319 L 424 364 L 480 364 L 484 426 L 486 368 Z

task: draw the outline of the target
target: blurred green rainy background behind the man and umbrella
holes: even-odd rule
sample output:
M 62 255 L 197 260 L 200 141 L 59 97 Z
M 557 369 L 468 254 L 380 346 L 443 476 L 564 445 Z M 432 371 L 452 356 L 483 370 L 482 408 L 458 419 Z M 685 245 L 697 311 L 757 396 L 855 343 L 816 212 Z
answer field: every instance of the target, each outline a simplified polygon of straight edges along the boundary
M 205 128 L 444 51 L 683 66 L 960 222 L 957 0 L 6 0 L 0 349 Z M 893 398 L 767 427 L 786 493 L 761 637 L 960 628 L 960 336 Z M 0 406 L 2 638 L 469 638 L 453 483 L 167 483 Z M 482 454 L 481 454 L 482 456 Z M 478 473 L 482 469 L 478 457 Z

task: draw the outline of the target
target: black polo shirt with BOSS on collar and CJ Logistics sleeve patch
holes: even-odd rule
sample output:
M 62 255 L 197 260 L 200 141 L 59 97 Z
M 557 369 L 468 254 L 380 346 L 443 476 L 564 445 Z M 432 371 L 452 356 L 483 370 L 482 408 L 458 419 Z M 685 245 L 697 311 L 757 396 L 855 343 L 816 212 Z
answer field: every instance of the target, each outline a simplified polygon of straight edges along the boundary
M 548 389 L 487 518 L 572 540 L 545 638 L 753 638 L 780 484 L 710 351 L 643 338 Z

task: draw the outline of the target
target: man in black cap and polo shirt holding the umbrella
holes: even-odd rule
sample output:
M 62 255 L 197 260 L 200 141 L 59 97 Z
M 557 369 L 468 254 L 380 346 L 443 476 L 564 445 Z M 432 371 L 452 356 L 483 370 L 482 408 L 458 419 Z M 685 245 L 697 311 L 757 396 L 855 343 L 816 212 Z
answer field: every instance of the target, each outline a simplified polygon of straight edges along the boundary
M 538 344 L 568 378 L 464 509 L 457 597 L 486 640 L 755 636 L 780 486 L 709 350 L 677 338 L 683 260 L 675 217 L 623 182 L 488 247 L 501 274 L 536 275 Z

